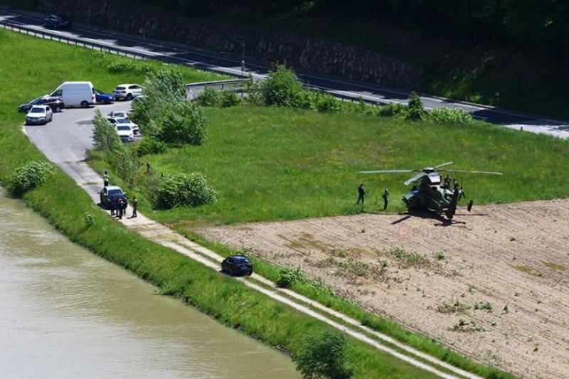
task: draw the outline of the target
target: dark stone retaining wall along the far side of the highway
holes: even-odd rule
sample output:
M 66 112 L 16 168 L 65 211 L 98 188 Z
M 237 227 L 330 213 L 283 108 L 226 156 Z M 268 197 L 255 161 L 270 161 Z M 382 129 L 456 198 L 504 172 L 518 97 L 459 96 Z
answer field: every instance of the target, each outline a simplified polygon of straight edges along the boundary
M 338 75 L 378 85 L 419 90 L 422 71 L 356 46 L 306 38 L 292 33 L 255 31 L 199 21 L 108 0 L 40 0 L 46 14 L 65 9 L 74 21 L 117 31 L 161 38 L 196 48 L 227 51 L 267 62 L 286 61 L 297 70 Z

